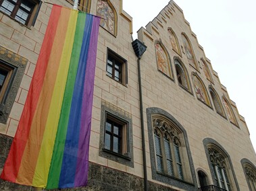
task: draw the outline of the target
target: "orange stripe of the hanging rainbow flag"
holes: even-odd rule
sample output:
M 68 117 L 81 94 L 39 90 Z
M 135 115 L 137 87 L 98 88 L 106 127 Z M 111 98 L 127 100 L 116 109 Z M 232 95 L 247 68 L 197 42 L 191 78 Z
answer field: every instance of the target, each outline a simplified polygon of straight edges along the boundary
M 61 9 L 59 23 L 57 24 L 57 31 L 55 34 L 55 37 L 57 38 L 55 38 L 53 42 L 43 88 L 32 120 L 30 135 L 22 157 L 22 164 L 20 165 L 20 170 L 16 179 L 16 182 L 20 184 L 32 184 L 61 59 L 61 52 L 65 42 L 63 39 L 65 39 L 66 33 L 63 33 L 63 31 L 66 31 L 68 26 L 68 23 L 65 21 L 67 21 L 69 17 L 70 9 Z

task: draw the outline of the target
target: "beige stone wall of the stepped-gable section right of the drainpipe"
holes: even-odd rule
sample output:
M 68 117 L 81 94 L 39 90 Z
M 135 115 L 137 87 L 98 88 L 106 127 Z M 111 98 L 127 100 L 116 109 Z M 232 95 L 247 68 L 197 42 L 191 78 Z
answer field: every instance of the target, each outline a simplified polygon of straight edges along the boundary
M 168 28 L 174 30 L 180 46 L 184 46 L 181 34 L 184 32 L 186 36 L 188 36 L 193 46 L 195 58 L 200 62 L 198 63 L 199 71 L 188 65 L 186 54 L 184 54 L 184 52 L 181 51 L 182 55 L 180 56 L 172 50 L 172 45 L 170 44 L 168 37 Z M 255 151 L 249 138 L 247 125 L 244 118 L 238 113 L 236 104 L 230 100 L 226 87 L 220 83 L 217 73 L 213 71 L 211 62 L 205 56 L 203 47 L 199 45 L 197 36 L 190 29 L 189 23 L 184 19 L 182 10 L 175 3 L 169 4 L 168 7 L 165 7 L 165 9 L 163 9 L 159 15 L 147 25 L 146 29 L 142 28 L 138 31 L 138 39 L 144 42 L 147 46 L 147 51 L 143 54 L 143 58 L 140 61 L 143 73 L 143 95 L 145 95 L 143 98 L 145 118 L 145 109 L 147 107 L 162 108 L 172 114 L 172 116 L 174 116 L 174 118 L 176 118 L 176 120 L 178 120 L 178 122 L 180 122 L 186 129 L 195 169 L 204 169 L 211 183 L 211 173 L 205 155 L 203 139 L 211 138 L 220 143 L 230 155 L 234 167 L 234 174 L 240 190 L 248 190 L 240 160 L 242 158 L 247 158 L 253 163 L 256 163 L 256 158 Z M 161 42 L 163 42 L 170 54 L 175 81 L 172 81 L 168 77 L 165 77 L 161 72 L 157 71 L 155 40 L 159 39 L 161 39 Z M 178 85 L 174 67 L 174 56 L 178 56 L 184 63 L 188 75 L 190 76 L 189 79 L 192 87 L 193 81 L 191 73 L 196 72 L 203 80 L 208 95 L 210 95 L 208 86 L 212 85 L 220 96 L 220 99 L 222 99 L 223 95 L 228 98 L 239 127 L 230 123 L 228 119 L 215 112 L 210 96 L 211 108 L 197 100 L 194 88 L 193 95 L 191 95 Z M 209 67 L 213 83 L 205 77 L 203 68 L 201 67 L 201 58 L 203 58 Z M 145 126 L 147 127 L 146 120 Z M 149 157 L 149 147 L 147 147 L 147 159 L 149 159 Z M 147 165 L 150 165 L 149 161 L 147 162 Z M 149 174 L 150 171 L 151 169 L 149 170 Z

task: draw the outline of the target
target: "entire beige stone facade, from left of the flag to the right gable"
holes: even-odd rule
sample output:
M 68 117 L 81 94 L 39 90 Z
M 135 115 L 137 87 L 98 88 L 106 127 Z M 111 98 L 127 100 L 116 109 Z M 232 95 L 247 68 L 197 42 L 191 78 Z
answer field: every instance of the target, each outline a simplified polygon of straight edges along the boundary
M 51 0 L 48 2 L 72 7 L 70 3 L 66 3 L 66 1 L 63 0 Z M 132 18 L 122 10 L 122 1 L 110 0 L 110 2 L 113 3 L 113 7 L 116 9 L 118 15 L 118 32 L 117 36 L 113 36 L 104 28 L 99 28 L 89 160 L 93 163 L 99 163 L 143 178 L 137 58 L 131 44 Z M 91 13 L 93 14 L 96 13 L 96 3 L 97 1 L 91 2 Z M 30 81 L 34 73 L 36 61 L 47 28 L 51 6 L 52 5 L 49 3 L 42 4 L 36 24 L 31 28 L 21 26 L 7 15 L 0 13 L 0 45 L 28 59 L 28 65 L 7 124 L 0 124 L 0 133 L 3 135 L 14 137 L 16 133 L 16 128 L 20 120 L 20 115 L 22 114 Z M 188 36 L 193 46 L 196 60 L 201 62 L 201 58 L 203 58 L 205 63 L 207 63 L 211 72 L 211 77 L 213 78 L 213 83 L 206 79 L 200 63 L 199 71 L 196 71 L 193 67 L 188 65 L 186 55 L 182 51 L 182 56 L 179 56 L 172 50 L 168 38 L 168 28 L 174 30 L 178 42 L 182 46 L 182 32 Z M 157 71 L 155 40 L 159 40 L 160 38 L 170 54 L 174 81 Z M 217 73 L 213 71 L 211 62 L 205 56 L 203 48 L 197 41 L 197 36 L 190 29 L 189 23 L 184 19 L 182 10 L 175 3 L 168 5 L 168 7 L 165 7 L 165 9 L 159 13 L 155 20 L 147 25 L 146 29 L 141 28 L 139 30 L 138 39 L 141 42 L 144 42 L 147 46 L 147 51 L 143 54 L 140 63 L 143 86 L 147 174 L 149 180 L 156 182 L 155 180 L 152 180 L 151 176 L 146 109 L 150 107 L 158 107 L 172 114 L 172 116 L 174 116 L 174 118 L 176 118 L 176 120 L 178 120 L 178 122 L 180 122 L 186 129 L 195 169 L 204 169 L 212 183 L 209 165 L 205 155 L 205 148 L 203 146 L 203 139 L 214 139 L 220 143 L 230 155 L 240 190 L 247 190 L 248 186 L 242 171 L 240 160 L 242 158 L 247 158 L 256 164 L 255 151 L 253 150 L 253 146 L 249 139 L 249 131 L 245 120 L 238 113 L 236 105 L 229 100 L 236 116 L 236 120 L 238 121 L 239 128 L 215 112 L 211 98 L 212 108 L 197 100 L 193 88 L 192 95 L 178 85 L 174 67 L 174 56 L 179 56 L 186 66 L 192 87 L 193 81 L 191 73 L 197 72 L 199 77 L 203 80 L 205 87 L 207 87 L 207 91 L 209 90 L 208 86 L 211 84 L 217 91 L 220 99 L 222 98 L 222 95 L 225 95 L 225 97 L 229 99 L 226 88 L 220 83 Z M 107 48 L 110 48 L 126 59 L 128 63 L 128 85 L 122 85 L 107 76 Z M 121 108 L 132 115 L 134 167 L 128 167 L 117 163 L 116 161 L 111 161 L 99 156 L 102 100 L 114 104 L 118 108 Z

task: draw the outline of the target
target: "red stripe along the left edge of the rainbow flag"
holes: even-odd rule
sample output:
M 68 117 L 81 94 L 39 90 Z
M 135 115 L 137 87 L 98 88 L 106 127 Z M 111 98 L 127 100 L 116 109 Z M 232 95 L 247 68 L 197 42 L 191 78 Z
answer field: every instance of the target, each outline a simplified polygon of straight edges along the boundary
M 8 180 L 10 182 L 16 182 L 16 177 L 18 176 L 22 155 L 28 141 L 28 135 L 30 134 L 30 125 L 34 118 L 34 112 L 39 101 L 39 96 L 43 87 L 43 79 L 45 78 L 47 64 L 51 55 L 51 48 L 57 29 L 59 15 L 61 13 L 61 7 L 54 6 L 53 9 L 55 10 L 52 11 L 52 19 L 49 20 L 48 24 L 48 27 L 50 27 L 51 30 L 47 30 L 45 34 L 41 52 L 39 54 L 39 60 L 37 61 L 32 83 L 28 91 L 28 97 L 20 118 L 18 130 L 1 174 L 3 180 Z

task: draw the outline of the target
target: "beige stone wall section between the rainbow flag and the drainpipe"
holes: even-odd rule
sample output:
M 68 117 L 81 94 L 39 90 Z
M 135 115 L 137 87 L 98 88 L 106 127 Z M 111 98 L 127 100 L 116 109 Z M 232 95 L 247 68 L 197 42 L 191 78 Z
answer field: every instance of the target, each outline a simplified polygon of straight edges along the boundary
M 96 13 L 97 1 L 92 1 L 91 11 Z M 138 100 L 138 73 L 136 56 L 132 48 L 131 20 L 122 10 L 122 1 L 111 1 L 118 15 L 118 32 L 113 36 L 107 30 L 99 28 L 97 65 L 95 72 L 95 90 L 93 98 L 93 122 L 91 126 L 90 161 L 118 168 L 136 176 L 143 176 L 143 157 L 141 149 L 140 110 Z M 106 73 L 107 48 L 110 48 L 128 63 L 128 85 L 122 85 Z M 128 167 L 99 156 L 99 136 L 101 120 L 101 100 L 132 114 L 134 168 Z

